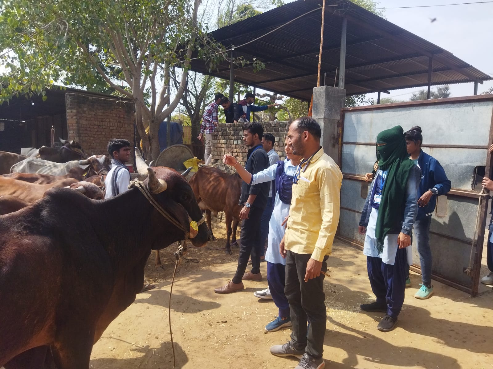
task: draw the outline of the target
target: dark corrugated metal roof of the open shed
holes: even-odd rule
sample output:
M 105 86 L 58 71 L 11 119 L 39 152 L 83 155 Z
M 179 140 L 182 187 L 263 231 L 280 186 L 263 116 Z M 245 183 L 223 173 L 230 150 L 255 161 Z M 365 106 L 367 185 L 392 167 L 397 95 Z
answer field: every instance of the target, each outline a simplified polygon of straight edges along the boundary
M 426 86 L 431 56 L 432 85 L 492 79 L 449 51 L 352 2 L 326 0 L 325 6 L 322 84 L 324 73 L 327 85 L 338 79 L 344 17 L 348 20 L 345 88 L 350 95 Z M 300 18 L 261 37 L 297 17 Z M 257 73 L 253 73 L 251 66 L 236 66 L 235 81 L 310 100 L 317 86 L 320 24 L 321 1 L 297 0 L 213 31 L 211 37 L 226 48 L 236 45 L 235 57 L 242 56 L 247 61 L 257 58 L 265 63 L 265 68 Z M 256 40 L 258 37 L 261 38 Z M 253 42 L 244 45 L 249 41 Z M 209 71 L 204 62 L 196 60 L 192 70 L 229 79 L 228 62 Z

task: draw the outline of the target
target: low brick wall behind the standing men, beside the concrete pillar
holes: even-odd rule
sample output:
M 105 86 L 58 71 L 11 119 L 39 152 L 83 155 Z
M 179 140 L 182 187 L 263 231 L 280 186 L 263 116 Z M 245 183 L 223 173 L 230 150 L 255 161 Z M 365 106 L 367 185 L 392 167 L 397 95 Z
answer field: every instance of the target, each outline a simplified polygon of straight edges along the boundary
M 272 133 L 276 137 L 274 149 L 284 160 L 284 135 L 287 122 L 263 122 L 264 133 Z M 224 154 L 234 155 L 238 161 L 245 165 L 246 151 L 248 148 L 243 145 L 243 123 L 219 123 L 213 133 L 214 148 L 212 150 L 212 162 L 222 161 Z

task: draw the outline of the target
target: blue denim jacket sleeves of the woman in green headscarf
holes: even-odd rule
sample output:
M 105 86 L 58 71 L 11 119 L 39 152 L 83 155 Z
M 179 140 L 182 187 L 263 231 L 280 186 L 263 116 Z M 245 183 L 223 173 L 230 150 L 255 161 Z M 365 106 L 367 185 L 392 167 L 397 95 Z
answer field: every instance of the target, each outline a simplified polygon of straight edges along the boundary
M 371 187 L 368 191 L 368 196 L 366 196 L 365 205 L 363 206 L 363 212 L 361 213 L 361 219 L 359 225 L 363 227 L 368 226 L 368 221 L 370 219 L 371 202 L 373 196 L 375 195 L 375 184 L 377 183 L 376 178 L 380 175 L 382 171 L 377 170 Z M 406 235 L 411 235 L 414 221 L 416 220 L 416 215 L 418 214 L 418 186 L 421 181 L 421 169 L 415 165 L 409 173 L 409 178 L 407 180 L 407 190 L 406 190 L 406 207 L 404 209 L 404 215 L 402 217 L 402 229 L 401 232 Z

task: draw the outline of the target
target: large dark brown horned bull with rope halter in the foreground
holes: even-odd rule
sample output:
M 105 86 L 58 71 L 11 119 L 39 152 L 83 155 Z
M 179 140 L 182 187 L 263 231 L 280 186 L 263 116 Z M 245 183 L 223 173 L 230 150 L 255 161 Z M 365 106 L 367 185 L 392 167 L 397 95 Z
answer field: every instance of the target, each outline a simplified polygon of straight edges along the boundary
M 0 367 L 88 369 L 93 344 L 141 291 L 151 248 L 187 234 L 205 246 L 202 219 L 190 185 L 165 167 L 111 199 L 56 188 L 0 216 Z

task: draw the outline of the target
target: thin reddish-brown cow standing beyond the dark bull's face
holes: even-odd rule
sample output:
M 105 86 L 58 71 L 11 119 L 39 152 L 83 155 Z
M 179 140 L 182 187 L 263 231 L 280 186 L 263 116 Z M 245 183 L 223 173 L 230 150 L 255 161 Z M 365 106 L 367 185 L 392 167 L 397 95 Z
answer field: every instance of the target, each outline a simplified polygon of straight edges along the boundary
M 224 211 L 226 215 L 226 246 L 224 252 L 231 255 L 229 239 L 236 244 L 236 229 L 240 220 L 242 207 L 238 205 L 242 192 L 242 179 L 235 174 L 227 174 L 210 166 L 200 167 L 190 179 L 190 186 L 202 210 L 207 214 L 207 224 L 211 230 L 211 238 L 215 240 L 211 228 L 211 212 Z M 233 227 L 231 221 L 233 221 Z

